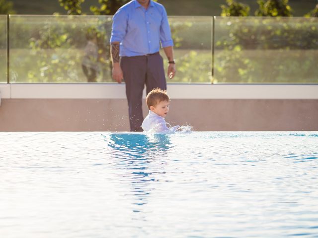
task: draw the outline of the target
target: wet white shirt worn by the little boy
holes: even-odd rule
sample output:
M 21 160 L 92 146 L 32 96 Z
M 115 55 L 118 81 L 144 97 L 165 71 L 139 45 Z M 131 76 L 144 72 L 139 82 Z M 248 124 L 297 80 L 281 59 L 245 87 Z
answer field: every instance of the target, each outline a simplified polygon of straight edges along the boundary
M 163 132 L 169 130 L 165 123 L 165 119 L 149 110 L 149 114 L 144 119 L 141 127 L 144 131 L 153 130 L 153 132 Z

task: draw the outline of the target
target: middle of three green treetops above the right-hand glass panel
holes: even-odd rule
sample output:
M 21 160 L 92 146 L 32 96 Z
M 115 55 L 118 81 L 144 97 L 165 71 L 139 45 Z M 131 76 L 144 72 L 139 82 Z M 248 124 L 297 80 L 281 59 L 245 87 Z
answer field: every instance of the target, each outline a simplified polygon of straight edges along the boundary
M 255 16 L 292 16 L 292 8 L 288 0 L 258 0 L 259 8 Z

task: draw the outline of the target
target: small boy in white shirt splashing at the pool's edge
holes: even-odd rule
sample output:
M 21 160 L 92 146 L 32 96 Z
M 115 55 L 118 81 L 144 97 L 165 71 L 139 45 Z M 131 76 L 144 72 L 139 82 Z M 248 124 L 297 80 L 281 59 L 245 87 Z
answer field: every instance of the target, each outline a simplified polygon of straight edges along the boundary
M 149 114 L 144 119 L 141 127 L 144 131 L 153 132 L 171 132 L 179 128 L 173 126 L 168 128 L 164 118 L 169 112 L 169 96 L 165 90 L 159 88 L 153 89 L 146 97 L 146 103 L 149 108 Z

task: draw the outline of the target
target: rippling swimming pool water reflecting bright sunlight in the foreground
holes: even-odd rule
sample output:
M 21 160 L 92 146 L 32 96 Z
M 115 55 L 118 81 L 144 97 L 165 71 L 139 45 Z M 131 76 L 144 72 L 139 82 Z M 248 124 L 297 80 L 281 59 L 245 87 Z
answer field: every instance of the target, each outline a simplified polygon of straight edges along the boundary
M 318 132 L 0 132 L 3 238 L 318 237 Z

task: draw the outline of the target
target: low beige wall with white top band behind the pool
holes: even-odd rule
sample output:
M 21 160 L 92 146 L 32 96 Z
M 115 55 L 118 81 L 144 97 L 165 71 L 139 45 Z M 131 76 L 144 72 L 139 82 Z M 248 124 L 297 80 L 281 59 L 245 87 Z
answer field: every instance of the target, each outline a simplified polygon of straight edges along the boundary
M 167 91 L 172 125 L 318 130 L 318 85 L 168 84 Z M 124 84 L 0 84 L 0 94 L 0 131 L 129 130 Z

